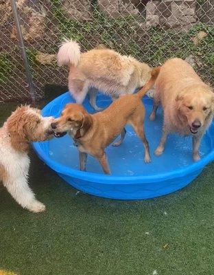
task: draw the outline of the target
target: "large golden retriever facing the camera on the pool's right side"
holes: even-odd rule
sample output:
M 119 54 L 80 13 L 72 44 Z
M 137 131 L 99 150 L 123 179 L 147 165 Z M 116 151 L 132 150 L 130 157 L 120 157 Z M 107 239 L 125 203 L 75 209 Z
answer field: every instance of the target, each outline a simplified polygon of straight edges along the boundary
M 150 120 L 154 120 L 159 102 L 164 113 L 163 135 L 155 154 L 161 155 L 167 135 L 177 132 L 193 137 L 193 159 L 199 160 L 200 141 L 213 119 L 214 94 L 211 87 L 180 58 L 172 58 L 161 67 L 155 86 Z

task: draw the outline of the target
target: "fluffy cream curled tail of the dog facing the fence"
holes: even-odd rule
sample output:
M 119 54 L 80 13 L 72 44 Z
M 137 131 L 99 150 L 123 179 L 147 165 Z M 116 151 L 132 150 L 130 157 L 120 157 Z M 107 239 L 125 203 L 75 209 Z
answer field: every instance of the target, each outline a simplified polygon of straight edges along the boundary
M 60 45 L 57 61 L 59 66 L 72 65 L 76 67 L 80 62 L 80 45 L 73 40 L 65 39 Z

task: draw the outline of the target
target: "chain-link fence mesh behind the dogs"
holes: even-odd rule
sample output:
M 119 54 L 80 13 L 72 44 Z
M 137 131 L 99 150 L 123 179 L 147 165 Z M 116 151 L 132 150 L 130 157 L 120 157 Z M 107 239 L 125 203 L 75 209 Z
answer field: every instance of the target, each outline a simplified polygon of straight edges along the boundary
M 36 97 L 66 85 L 56 63 L 63 38 L 82 51 L 103 44 L 151 66 L 186 59 L 214 84 L 214 0 L 16 0 Z M 0 100 L 30 97 L 9 0 L 0 0 Z

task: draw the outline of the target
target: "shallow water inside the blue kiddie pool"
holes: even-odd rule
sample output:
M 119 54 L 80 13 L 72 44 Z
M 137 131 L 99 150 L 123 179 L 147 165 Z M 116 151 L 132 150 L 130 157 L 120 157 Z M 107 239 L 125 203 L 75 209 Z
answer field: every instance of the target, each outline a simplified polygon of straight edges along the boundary
M 145 134 L 150 143 L 150 155 L 152 162 L 145 164 L 144 148 L 139 137 L 134 133 L 131 126 L 126 126 L 126 137 L 119 147 L 108 146 L 106 153 L 112 175 L 154 175 L 169 172 L 177 168 L 182 168 L 193 163 L 191 137 L 180 137 L 179 135 L 169 135 L 163 155 L 157 157 L 154 150 L 160 141 L 163 114 L 160 109 L 156 120 L 150 121 L 148 116 L 152 109 L 151 102 L 145 100 Z M 99 102 L 101 107 L 110 104 L 110 100 Z M 88 105 L 87 105 L 88 106 Z M 92 109 L 90 108 L 91 112 Z M 209 137 L 205 136 L 200 146 L 200 155 L 203 157 L 211 150 Z M 49 141 L 48 152 L 51 159 L 69 166 L 73 169 L 79 168 L 78 149 L 73 146 L 73 140 L 69 135 L 61 138 L 54 137 Z M 94 157 L 88 155 L 86 170 L 92 173 L 103 173 L 101 166 Z

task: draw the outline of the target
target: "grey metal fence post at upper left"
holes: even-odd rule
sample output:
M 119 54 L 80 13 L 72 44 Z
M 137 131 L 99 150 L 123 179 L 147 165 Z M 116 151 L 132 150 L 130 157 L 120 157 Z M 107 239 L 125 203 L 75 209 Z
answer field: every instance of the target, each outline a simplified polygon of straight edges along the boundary
M 23 57 L 23 65 L 25 67 L 25 74 L 26 74 L 26 78 L 27 78 L 27 83 L 29 85 L 29 93 L 31 94 L 32 102 L 35 103 L 34 84 L 33 84 L 33 81 L 32 81 L 32 76 L 31 76 L 30 69 L 29 69 L 27 55 L 26 55 L 26 52 L 25 52 L 25 45 L 24 45 L 24 41 L 23 41 L 23 35 L 22 35 L 22 32 L 21 32 L 19 14 L 18 14 L 18 10 L 17 10 L 17 7 L 16 7 L 16 0 L 10 0 L 10 3 L 11 3 L 11 7 L 12 7 L 12 13 L 13 13 L 13 16 L 14 16 L 14 21 L 15 21 L 15 24 L 16 24 L 16 30 L 17 30 L 17 35 L 18 35 L 18 39 L 19 39 L 19 45 L 20 45 L 20 48 L 21 48 L 21 55 Z

